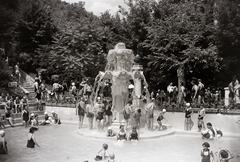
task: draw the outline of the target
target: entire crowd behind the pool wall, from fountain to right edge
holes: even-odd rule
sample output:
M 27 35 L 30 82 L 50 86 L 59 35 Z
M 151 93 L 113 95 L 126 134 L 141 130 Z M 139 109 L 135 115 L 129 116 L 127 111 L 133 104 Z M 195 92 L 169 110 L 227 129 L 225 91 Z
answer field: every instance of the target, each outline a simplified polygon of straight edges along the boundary
M 193 107 L 203 105 L 207 108 L 226 108 L 234 109 L 239 102 L 240 84 L 237 76 L 232 77 L 229 83 L 229 95 L 224 96 L 222 88 L 205 87 L 201 79 L 191 81 L 192 87 L 186 87 L 183 82 L 180 86 L 174 86 L 173 82 L 167 86 L 166 90 L 157 90 L 151 92 L 151 98 L 156 99 L 156 105 L 167 109 L 168 107 L 176 107 L 182 109 L 185 103 L 191 103 Z M 224 100 L 228 98 L 229 106 L 226 107 Z

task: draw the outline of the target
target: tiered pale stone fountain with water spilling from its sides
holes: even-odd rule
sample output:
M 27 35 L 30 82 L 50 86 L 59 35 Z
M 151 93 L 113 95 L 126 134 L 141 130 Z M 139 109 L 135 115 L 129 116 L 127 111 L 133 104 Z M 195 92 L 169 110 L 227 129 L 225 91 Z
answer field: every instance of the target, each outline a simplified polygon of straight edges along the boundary
M 118 43 L 108 52 L 105 72 L 100 71 L 95 78 L 91 95 L 93 103 L 99 96 L 112 100 L 113 109 L 119 113 L 119 121 L 129 99 L 133 100 L 134 108 L 140 108 L 143 93 L 149 100 L 148 84 L 142 66 L 134 63 L 134 58 L 131 49 L 126 49 L 124 43 Z

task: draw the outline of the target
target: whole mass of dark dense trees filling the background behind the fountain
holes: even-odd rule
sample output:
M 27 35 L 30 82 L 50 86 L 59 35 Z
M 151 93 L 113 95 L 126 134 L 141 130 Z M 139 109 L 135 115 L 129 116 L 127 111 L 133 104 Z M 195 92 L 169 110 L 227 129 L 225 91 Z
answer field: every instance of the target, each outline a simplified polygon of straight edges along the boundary
M 60 81 L 95 78 L 108 51 L 124 42 L 139 55 L 152 89 L 202 78 L 207 86 L 226 86 L 239 74 L 240 5 L 237 0 L 128 0 L 128 8 L 100 16 L 84 2 L 1 0 L 0 48 L 9 65 L 27 72 L 45 69 Z M 5 75 L 1 69 L 1 78 Z M 7 72 L 7 71 L 6 71 Z M 10 72 L 9 72 L 10 73 Z M 227 77 L 224 77 L 227 76 Z M 5 77 L 2 82 L 7 82 Z M 1 84 L 3 86 L 3 84 Z

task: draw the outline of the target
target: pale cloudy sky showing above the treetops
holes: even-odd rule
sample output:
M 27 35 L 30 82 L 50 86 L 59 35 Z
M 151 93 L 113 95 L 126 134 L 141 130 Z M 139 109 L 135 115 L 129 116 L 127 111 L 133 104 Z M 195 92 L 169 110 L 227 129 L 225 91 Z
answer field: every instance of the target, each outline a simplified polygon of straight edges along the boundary
M 87 11 L 93 12 L 95 15 L 109 10 L 111 14 L 115 14 L 118 11 L 118 5 L 126 8 L 124 0 L 62 0 L 68 3 L 74 3 L 83 1 L 85 2 L 85 8 Z M 128 0 L 126 0 L 128 1 Z

